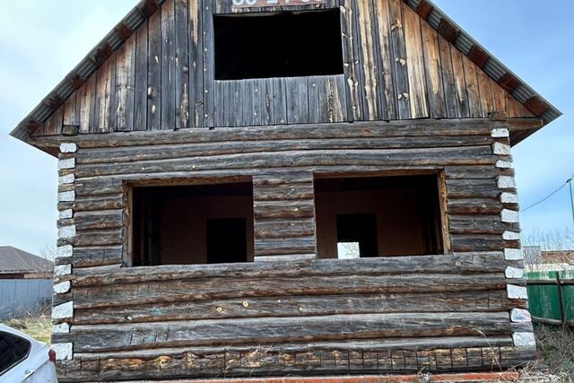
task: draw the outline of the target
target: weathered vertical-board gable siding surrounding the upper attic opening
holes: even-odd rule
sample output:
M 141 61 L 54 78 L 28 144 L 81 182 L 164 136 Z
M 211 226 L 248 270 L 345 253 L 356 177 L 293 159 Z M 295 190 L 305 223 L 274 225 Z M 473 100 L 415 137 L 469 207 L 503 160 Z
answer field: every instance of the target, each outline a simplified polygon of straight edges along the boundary
M 343 74 L 214 80 L 214 13 L 338 8 Z M 401 0 L 231 8 L 167 0 L 34 135 L 411 118 L 533 117 Z M 62 114 L 60 118 L 59 114 Z

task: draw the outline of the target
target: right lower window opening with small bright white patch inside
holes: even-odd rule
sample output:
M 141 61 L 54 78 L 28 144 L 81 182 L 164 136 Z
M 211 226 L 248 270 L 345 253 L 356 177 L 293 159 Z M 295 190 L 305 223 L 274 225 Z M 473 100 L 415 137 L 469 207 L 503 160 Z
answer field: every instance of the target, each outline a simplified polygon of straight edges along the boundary
M 435 174 L 316 178 L 317 257 L 444 253 Z

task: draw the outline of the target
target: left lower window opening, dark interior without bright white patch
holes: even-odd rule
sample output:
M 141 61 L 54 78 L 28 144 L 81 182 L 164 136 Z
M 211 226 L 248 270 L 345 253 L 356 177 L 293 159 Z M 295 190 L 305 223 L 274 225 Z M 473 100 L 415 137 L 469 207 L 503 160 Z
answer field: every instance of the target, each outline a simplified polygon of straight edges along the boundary
M 253 261 L 251 182 L 134 187 L 132 265 Z

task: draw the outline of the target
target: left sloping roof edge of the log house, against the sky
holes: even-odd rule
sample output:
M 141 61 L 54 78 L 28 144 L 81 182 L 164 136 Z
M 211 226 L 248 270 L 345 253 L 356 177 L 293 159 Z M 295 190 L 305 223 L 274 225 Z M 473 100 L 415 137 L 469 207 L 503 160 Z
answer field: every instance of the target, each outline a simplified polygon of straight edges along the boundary
M 80 64 L 39 102 L 36 108 L 10 132 L 14 138 L 27 142 L 30 135 L 41 126 L 68 97 L 93 74 L 111 54 L 121 47 L 166 0 L 140 0 L 126 16 L 83 57 Z

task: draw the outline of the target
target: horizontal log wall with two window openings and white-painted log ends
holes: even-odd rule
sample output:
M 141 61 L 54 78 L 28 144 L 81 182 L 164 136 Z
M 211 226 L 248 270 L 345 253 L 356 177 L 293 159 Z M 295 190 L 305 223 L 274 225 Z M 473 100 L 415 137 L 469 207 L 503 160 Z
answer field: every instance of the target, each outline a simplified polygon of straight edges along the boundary
M 60 379 L 490 370 L 534 358 L 507 122 L 44 137 Z M 50 141 L 51 140 L 51 141 Z M 313 179 L 437 172 L 448 254 L 315 259 Z M 129 265 L 130 185 L 252 178 L 255 261 Z

